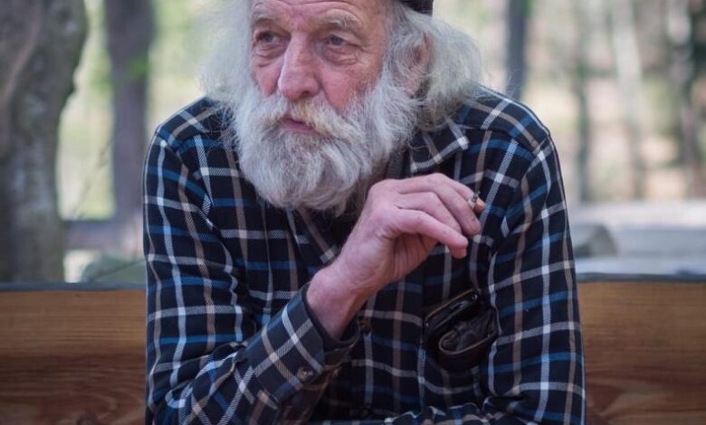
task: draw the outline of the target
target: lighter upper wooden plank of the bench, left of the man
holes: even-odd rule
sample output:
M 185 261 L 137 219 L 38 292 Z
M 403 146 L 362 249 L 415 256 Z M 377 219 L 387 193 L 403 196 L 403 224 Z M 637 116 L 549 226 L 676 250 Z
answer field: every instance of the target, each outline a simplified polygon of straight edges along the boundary
M 0 292 L 0 356 L 139 353 L 144 297 L 142 290 Z

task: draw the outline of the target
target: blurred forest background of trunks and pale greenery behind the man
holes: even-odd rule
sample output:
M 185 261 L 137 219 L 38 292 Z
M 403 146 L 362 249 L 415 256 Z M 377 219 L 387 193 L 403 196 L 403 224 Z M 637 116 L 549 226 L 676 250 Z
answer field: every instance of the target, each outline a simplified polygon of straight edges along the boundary
M 142 158 L 200 96 L 208 5 L 5 1 L 0 281 L 139 261 Z M 478 42 L 485 84 L 552 130 L 571 210 L 706 197 L 706 1 L 437 0 L 434 13 Z

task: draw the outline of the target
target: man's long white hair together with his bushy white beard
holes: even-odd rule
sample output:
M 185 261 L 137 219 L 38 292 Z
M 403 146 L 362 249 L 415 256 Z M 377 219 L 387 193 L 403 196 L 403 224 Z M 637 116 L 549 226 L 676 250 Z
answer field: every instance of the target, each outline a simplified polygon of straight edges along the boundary
M 390 1 L 390 0 L 388 0 Z M 224 109 L 224 142 L 258 194 L 277 207 L 304 207 L 337 215 L 358 210 L 367 188 L 390 156 L 415 133 L 432 128 L 473 95 L 477 52 L 463 33 L 387 4 L 387 48 L 376 83 L 337 111 L 320 99 L 290 102 L 279 92 L 264 97 L 249 71 L 248 0 L 232 0 L 216 24 L 220 41 L 205 67 L 206 93 Z M 428 52 L 428 63 L 419 62 Z M 424 65 L 426 65 L 424 67 Z M 423 68 L 424 67 L 424 68 Z M 410 93 L 409 81 L 419 82 Z M 285 114 L 317 135 L 282 131 Z

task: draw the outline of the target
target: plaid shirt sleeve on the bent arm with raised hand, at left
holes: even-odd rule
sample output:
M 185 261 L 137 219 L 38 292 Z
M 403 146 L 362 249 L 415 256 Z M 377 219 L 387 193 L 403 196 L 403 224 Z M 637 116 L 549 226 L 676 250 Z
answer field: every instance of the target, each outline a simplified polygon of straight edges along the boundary
M 302 290 L 253 320 L 209 196 L 168 139 L 157 133 L 145 167 L 146 422 L 306 421 L 352 343 L 324 350 Z

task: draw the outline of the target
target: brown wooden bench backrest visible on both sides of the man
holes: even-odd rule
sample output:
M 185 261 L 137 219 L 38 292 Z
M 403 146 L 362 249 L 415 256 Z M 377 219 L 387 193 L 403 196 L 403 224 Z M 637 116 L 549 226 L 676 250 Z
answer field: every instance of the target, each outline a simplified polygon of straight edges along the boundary
M 706 279 L 579 285 L 588 423 L 706 423 Z M 0 424 L 141 423 L 144 288 L 0 285 Z

